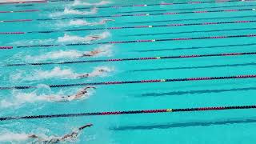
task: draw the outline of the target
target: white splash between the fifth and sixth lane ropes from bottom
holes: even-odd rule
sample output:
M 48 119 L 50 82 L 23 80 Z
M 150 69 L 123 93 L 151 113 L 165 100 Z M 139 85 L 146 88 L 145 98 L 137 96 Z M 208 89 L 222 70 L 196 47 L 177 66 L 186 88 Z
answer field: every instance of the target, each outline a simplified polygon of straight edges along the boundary
M 77 19 L 77 20 L 71 20 L 68 23 L 68 26 L 98 26 L 98 25 L 104 25 L 106 24 L 106 22 L 109 22 L 109 21 L 114 21 L 114 19 L 102 19 L 99 22 L 87 22 L 86 20 Z

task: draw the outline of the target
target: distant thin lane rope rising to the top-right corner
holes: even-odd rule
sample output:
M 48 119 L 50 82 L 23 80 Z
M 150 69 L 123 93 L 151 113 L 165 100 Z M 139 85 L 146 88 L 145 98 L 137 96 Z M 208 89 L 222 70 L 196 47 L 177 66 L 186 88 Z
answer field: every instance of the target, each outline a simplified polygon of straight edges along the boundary
M 222 1 L 195 1 L 195 2 L 173 2 L 173 3 L 154 3 L 154 4 L 136 4 L 136 5 L 116 5 L 116 6 L 96 6 L 98 9 L 104 9 L 104 8 L 123 8 L 123 7 L 144 7 L 144 6 L 174 6 L 174 5 L 198 5 L 198 4 L 205 4 L 205 3 L 227 3 L 227 2 L 254 2 L 255 0 L 222 0 Z M 53 2 L 53 1 L 51 1 Z M 90 9 L 90 7 L 84 7 L 82 9 Z M 49 11 L 55 10 L 55 9 L 48 9 Z M 64 9 L 58 9 L 58 10 L 64 10 Z

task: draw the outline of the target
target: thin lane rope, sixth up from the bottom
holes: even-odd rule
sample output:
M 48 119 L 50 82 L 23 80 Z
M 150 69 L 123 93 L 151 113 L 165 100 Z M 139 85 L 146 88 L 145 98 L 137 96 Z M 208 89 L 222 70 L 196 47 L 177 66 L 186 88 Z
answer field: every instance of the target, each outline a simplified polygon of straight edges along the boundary
M 121 17 L 148 17 L 156 15 L 175 15 L 175 14 L 206 14 L 206 13 L 222 13 L 222 12 L 238 12 L 238 11 L 255 11 L 256 9 L 231 9 L 231 10 L 201 10 L 201 11 L 185 11 L 185 12 L 167 12 L 167 13 L 142 13 L 142 14 L 114 14 L 100 16 L 82 16 L 82 17 L 66 17 L 66 18 L 39 18 L 36 21 L 55 21 L 65 19 L 84 19 L 84 18 L 121 18 Z

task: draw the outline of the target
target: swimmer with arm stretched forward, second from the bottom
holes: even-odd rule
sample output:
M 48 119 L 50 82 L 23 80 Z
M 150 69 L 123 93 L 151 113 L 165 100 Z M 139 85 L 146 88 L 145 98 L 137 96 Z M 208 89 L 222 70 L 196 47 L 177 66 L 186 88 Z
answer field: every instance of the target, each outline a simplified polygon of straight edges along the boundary
M 82 90 L 80 90 L 77 94 L 74 95 L 68 95 L 66 97 L 62 96 L 62 97 L 46 97 L 47 99 L 51 100 L 51 101 L 57 101 L 57 102 L 67 102 L 67 101 L 72 101 L 75 99 L 80 99 L 83 97 L 84 94 L 88 93 L 88 89 L 96 89 L 96 87 L 94 86 L 87 86 L 85 88 L 83 88 Z

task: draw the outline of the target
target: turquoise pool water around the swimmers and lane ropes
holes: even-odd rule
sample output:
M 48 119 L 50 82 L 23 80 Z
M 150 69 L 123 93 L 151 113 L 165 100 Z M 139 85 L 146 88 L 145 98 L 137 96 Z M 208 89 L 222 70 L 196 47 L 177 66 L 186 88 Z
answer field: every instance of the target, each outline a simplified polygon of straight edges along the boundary
M 95 1 L 86 1 L 95 2 Z M 188 1 L 162 1 L 188 2 Z M 159 1 L 111 1 L 106 6 L 138 5 Z M 33 6 L 2 5 L 1 11 L 46 10 L 70 6 L 73 2 L 48 2 Z M 173 6 L 144 6 L 106 8 L 90 11 L 85 16 L 130 14 L 156 14 L 166 12 L 189 12 L 204 10 L 254 9 L 255 2 L 221 2 L 183 4 Z M 88 7 L 88 6 L 86 6 Z M 92 6 L 91 6 L 92 7 Z M 209 8 L 211 7 L 211 8 Z M 215 8 L 213 8 L 215 7 Z M 183 10 L 177 10 L 183 9 Z M 143 12 L 136 12 L 136 11 Z M 144 12 L 148 11 L 148 12 Z M 151 11 L 166 10 L 166 11 Z M 94 14 L 95 12 L 95 14 Z M 0 20 L 74 18 L 81 16 L 62 11 L 39 11 L 31 13 L 0 14 Z M 85 13 L 84 13 L 85 14 Z M 108 58 L 142 58 L 191 54 L 224 54 L 255 52 L 254 37 L 198 39 L 189 41 L 138 42 L 110 45 L 64 46 L 84 42 L 91 34 L 101 34 L 97 42 L 116 42 L 142 39 L 201 38 L 226 35 L 256 34 L 254 22 L 223 23 L 218 25 L 170 26 L 118 30 L 86 30 L 63 32 L 62 30 L 83 28 L 107 28 L 118 26 L 156 26 L 202 22 L 255 21 L 254 10 L 173 14 L 138 17 L 114 17 L 114 22 L 105 25 L 86 26 L 87 22 L 100 22 L 104 18 L 74 19 L 58 21 L 0 22 L 0 32 L 29 32 L 61 30 L 42 34 L 1 34 L 0 46 L 14 46 L 12 50 L 1 50 L 0 86 L 38 86 L 29 90 L 1 90 L 0 115 L 23 116 L 38 114 L 71 114 L 117 110 L 154 110 L 168 108 L 190 108 L 208 106 L 254 105 L 256 80 L 254 78 L 227 79 L 194 82 L 160 82 L 130 85 L 97 86 L 81 100 L 50 102 L 50 95 L 75 94 L 82 86 L 50 88 L 47 85 L 82 82 L 133 81 L 165 78 L 218 77 L 256 74 L 254 55 L 230 57 L 177 58 L 147 61 L 90 62 L 46 66 L 3 66 L 28 62 L 65 62 Z M 244 17 L 242 17 L 244 16 Z M 215 18 L 215 19 L 214 19 Z M 179 20 L 190 19 L 190 20 Z M 84 26 L 74 26 L 83 24 Z M 174 21 L 175 20 L 175 21 Z M 83 22 L 82 22 L 83 21 Z M 91 25 L 94 25 L 92 23 Z M 198 31 L 198 32 L 196 32 Z M 65 36 L 66 34 L 66 36 Z M 70 42 L 68 42 L 70 41 Z M 91 42 L 94 43 L 94 42 Z M 59 44 L 53 47 L 17 48 L 17 46 Z M 94 58 L 79 58 L 79 54 L 90 50 L 105 50 Z M 97 76 L 94 70 L 109 70 Z M 78 74 L 96 74 L 92 78 L 75 78 Z M 220 110 L 166 114 L 130 114 L 89 116 L 74 118 L 43 118 L 0 122 L 1 143 L 27 143 L 24 134 L 42 136 L 63 135 L 86 123 L 94 126 L 83 130 L 72 143 L 251 143 L 256 139 L 254 110 Z

